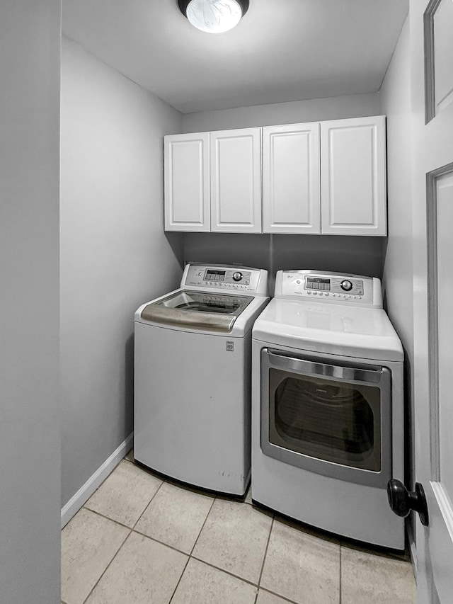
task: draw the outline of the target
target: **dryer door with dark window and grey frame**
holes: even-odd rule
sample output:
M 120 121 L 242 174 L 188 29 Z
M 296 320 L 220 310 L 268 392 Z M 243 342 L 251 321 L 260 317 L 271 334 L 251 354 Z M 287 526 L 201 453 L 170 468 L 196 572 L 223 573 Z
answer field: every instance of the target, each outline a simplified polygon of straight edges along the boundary
M 261 352 L 261 449 L 369 486 L 391 478 L 391 373 Z

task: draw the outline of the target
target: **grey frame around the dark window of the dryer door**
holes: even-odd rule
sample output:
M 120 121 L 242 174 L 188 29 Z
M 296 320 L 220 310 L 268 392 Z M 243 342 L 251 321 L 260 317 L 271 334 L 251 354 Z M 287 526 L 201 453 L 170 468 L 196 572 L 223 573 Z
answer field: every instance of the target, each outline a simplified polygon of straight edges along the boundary
M 366 486 L 374 486 L 377 488 L 386 488 L 386 484 L 391 478 L 391 372 L 387 367 L 380 367 L 379 372 L 381 380 L 379 382 L 371 382 L 377 384 L 375 387 L 381 391 L 381 421 L 380 421 L 380 452 L 381 452 L 381 471 L 373 472 L 369 469 L 362 469 L 357 467 L 351 467 L 336 462 L 330 462 L 326 460 L 320 460 L 316 457 L 310 457 L 294 450 L 283 448 L 279 445 L 270 443 L 269 440 L 269 418 L 270 418 L 270 392 L 269 392 L 269 370 L 270 367 L 276 367 L 271 362 L 271 358 L 275 361 L 278 357 L 277 367 L 283 371 L 289 367 L 285 364 L 285 360 L 300 361 L 302 358 L 294 358 L 293 356 L 286 356 L 285 351 L 275 351 L 273 349 L 263 348 L 261 351 L 261 417 L 260 417 L 260 445 L 264 455 L 273 457 L 288 465 L 293 465 L 307 472 L 314 474 L 321 474 L 323 476 L 331 477 L 334 479 L 342 480 L 343 482 L 352 482 L 355 484 L 364 484 Z M 306 361 L 308 365 L 311 365 L 311 361 Z M 315 363 L 321 364 L 323 363 Z M 334 365 L 329 365 L 334 366 Z M 336 366 L 336 365 L 335 365 Z M 299 367 L 306 368 L 306 365 L 299 365 Z M 342 368 L 342 367 L 340 367 Z M 377 369 L 375 366 L 363 367 L 365 371 L 371 370 L 372 372 Z M 362 368 L 361 368 L 362 370 Z M 292 373 L 299 373 L 299 375 L 318 375 L 308 373 L 304 370 L 294 371 Z M 331 376 L 323 375 L 326 380 L 336 379 Z M 337 378 L 338 379 L 338 378 Z M 351 383 L 345 380 L 345 383 Z M 353 380 L 354 384 L 365 384 L 369 385 L 370 382 L 362 380 Z

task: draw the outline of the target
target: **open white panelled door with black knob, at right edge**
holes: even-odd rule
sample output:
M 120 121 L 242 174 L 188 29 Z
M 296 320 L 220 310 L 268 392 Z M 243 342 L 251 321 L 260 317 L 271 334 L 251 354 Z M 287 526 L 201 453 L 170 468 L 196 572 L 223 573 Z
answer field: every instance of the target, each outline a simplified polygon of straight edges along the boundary
M 414 112 L 415 477 L 425 489 L 429 513 L 428 527 L 423 527 L 418 519 L 415 524 L 418 604 L 451 604 L 453 2 L 435 0 L 428 4 L 428 0 L 411 0 L 410 18 Z

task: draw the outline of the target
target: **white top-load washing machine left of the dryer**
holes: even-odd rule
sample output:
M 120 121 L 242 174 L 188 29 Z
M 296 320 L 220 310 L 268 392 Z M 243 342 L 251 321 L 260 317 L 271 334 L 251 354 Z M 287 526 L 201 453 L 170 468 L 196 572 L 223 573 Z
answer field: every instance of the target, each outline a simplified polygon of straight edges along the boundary
M 134 457 L 243 496 L 251 467 L 251 329 L 266 270 L 185 266 L 180 288 L 135 313 Z

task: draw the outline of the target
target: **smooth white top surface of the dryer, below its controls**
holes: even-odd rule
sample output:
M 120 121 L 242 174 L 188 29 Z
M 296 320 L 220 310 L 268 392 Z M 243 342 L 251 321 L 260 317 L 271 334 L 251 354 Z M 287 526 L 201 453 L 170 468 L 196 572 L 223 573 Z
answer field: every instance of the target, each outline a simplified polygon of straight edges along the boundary
M 403 361 L 403 347 L 383 309 L 274 298 L 256 319 L 253 338 L 280 346 L 372 360 Z

